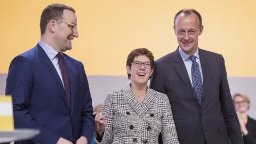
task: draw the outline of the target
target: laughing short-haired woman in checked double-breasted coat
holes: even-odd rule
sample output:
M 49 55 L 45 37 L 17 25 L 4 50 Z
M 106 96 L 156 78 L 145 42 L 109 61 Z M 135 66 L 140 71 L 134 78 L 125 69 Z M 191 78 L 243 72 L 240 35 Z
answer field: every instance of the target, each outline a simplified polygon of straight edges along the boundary
M 102 116 L 94 113 L 97 143 L 156 144 L 159 134 L 166 144 L 179 143 L 167 95 L 147 86 L 154 66 L 154 56 L 145 48 L 128 55 L 126 70 L 131 83 L 108 93 Z

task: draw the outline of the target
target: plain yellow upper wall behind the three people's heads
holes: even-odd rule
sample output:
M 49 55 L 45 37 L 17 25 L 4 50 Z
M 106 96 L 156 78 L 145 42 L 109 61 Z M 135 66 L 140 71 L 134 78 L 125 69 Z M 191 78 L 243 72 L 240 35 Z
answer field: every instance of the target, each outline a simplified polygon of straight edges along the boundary
M 156 59 L 174 51 L 173 17 L 194 8 L 203 17 L 199 47 L 223 54 L 229 76 L 256 76 L 254 0 L 2 1 L 0 73 L 7 73 L 15 55 L 36 45 L 41 12 L 56 2 L 77 11 L 79 38 L 67 53 L 84 63 L 87 74 L 126 75 L 127 54 L 137 47 L 147 47 Z

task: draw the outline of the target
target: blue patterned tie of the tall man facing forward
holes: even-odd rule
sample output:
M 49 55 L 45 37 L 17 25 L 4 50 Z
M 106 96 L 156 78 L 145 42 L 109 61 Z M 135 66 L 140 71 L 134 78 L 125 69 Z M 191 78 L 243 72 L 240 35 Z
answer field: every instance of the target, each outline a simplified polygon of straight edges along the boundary
M 196 56 L 191 55 L 189 59 L 193 62 L 191 68 L 192 84 L 196 93 L 196 97 L 199 101 L 199 104 L 202 106 L 203 101 L 203 82 L 199 69 L 199 65 L 196 62 Z

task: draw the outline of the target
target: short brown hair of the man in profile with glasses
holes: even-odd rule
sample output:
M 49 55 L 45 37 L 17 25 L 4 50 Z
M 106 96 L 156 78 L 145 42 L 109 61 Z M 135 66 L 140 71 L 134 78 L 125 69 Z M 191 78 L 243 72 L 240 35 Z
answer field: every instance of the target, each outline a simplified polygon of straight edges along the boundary
M 45 34 L 47 24 L 51 20 L 62 19 L 63 10 L 70 10 L 70 11 L 73 11 L 74 13 L 76 12 L 72 7 L 64 4 L 51 4 L 45 7 L 45 9 L 41 14 L 41 19 L 40 19 L 41 35 Z

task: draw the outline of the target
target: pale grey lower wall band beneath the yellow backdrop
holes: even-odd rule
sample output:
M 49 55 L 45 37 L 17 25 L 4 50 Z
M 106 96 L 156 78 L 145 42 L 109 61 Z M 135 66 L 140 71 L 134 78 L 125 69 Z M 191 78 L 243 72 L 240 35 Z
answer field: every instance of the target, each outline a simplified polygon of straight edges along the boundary
M 0 95 L 5 93 L 6 74 L 0 74 Z M 130 83 L 126 76 L 88 76 L 93 106 L 103 103 L 106 95 L 111 90 L 121 89 Z M 256 118 L 256 78 L 254 77 L 229 77 L 231 94 L 241 92 L 249 95 L 251 108 L 249 114 Z

